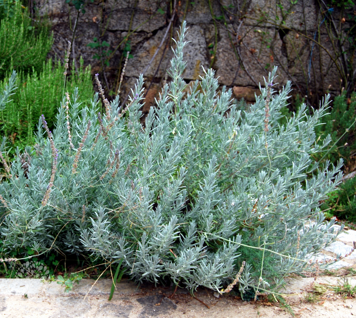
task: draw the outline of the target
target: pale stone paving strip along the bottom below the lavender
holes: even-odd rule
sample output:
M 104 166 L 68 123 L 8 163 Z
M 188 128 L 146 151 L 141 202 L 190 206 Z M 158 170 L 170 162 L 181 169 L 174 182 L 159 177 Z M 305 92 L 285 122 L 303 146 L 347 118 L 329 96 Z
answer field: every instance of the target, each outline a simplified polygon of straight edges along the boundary
M 288 297 L 297 317 L 344 318 L 356 316 L 356 300 L 326 301 L 322 306 L 307 303 L 300 294 L 313 278 L 293 278 L 283 292 L 297 293 Z M 318 278 L 318 282 L 338 283 L 337 277 Z M 350 281 L 356 283 L 355 279 Z M 271 303 L 243 302 L 234 296 L 216 298 L 208 290 L 198 290 L 196 296 L 210 308 L 192 298 L 186 291 L 179 291 L 173 299 L 171 288 L 137 288 L 124 280 L 118 284 L 112 301 L 108 301 L 111 281 L 103 279 L 91 289 L 93 280 L 84 279 L 69 293 L 58 284 L 42 283 L 31 279 L 0 279 L 0 318 L 259 318 L 293 317 L 289 311 Z M 27 298 L 24 297 L 27 294 Z

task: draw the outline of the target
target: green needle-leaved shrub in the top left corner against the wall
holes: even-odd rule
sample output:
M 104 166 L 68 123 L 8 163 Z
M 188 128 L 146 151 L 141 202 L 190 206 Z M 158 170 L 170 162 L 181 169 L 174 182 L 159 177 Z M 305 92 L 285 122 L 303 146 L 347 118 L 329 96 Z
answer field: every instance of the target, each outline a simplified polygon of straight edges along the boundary
M 51 49 L 53 39 L 43 23 L 32 25 L 20 1 L 4 0 L 0 6 L 0 79 L 15 69 L 39 71 Z

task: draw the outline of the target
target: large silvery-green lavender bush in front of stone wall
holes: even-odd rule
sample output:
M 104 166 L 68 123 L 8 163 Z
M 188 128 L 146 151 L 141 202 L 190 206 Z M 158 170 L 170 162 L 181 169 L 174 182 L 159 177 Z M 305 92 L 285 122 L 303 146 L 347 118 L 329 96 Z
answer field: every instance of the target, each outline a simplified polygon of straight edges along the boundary
M 41 200 L 53 157 L 39 122 L 36 145 L 26 149 L 31 154 L 28 169 L 24 172 L 17 152 L 11 164 L 16 177 L 0 185 L 7 204 L 0 220 L 4 253 L 21 248 L 44 253 L 50 247 L 89 253 L 114 263 L 123 260 L 126 273 L 137 281 L 158 282 L 168 276 L 191 290 L 216 290 L 239 270 L 239 243 L 257 246 L 265 240 L 269 249 L 303 259 L 335 237 L 334 220 L 324 221 L 319 202 L 340 182 L 342 163 L 319 166 L 312 159 L 330 142 L 328 136 L 319 147 L 314 133 L 329 96 L 312 116 L 302 105 L 280 126 L 290 82 L 279 92 L 272 88 L 265 134 L 266 88 L 261 86 L 262 94 L 244 112 L 231 103 L 230 89 L 218 91 L 211 69 L 184 93 L 185 23 L 181 31 L 168 71 L 172 80 L 162 88 L 145 124 L 140 121 L 142 76 L 125 116 L 119 115 L 119 98 L 111 102 L 110 121 L 97 114 L 98 94 L 91 106 L 79 111 L 79 92 L 73 92 L 69 121 L 75 147 L 91 121 L 74 172 L 77 149 L 69 147 L 63 100 L 53 131 L 57 172 L 45 206 Z M 276 68 L 268 81 L 275 73 Z M 273 283 L 276 273 L 283 276 L 305 266 L 267 256 L 262 273 L 266 288 L 281 282 Z M 246 265 L 239 283 L 242 292 L 256 286 L 260 271 L 260 265 Z

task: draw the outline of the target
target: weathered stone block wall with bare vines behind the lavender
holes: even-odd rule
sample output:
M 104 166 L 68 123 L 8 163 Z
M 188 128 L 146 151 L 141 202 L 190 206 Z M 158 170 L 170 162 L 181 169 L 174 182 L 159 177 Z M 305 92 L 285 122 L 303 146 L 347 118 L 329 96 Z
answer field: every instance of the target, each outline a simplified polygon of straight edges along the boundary
M 343 59 L 350 57 L 337 55 L 341 46 L 335 37 L 337 30 L 343 32 L 342 28 L 345 30 L 350 26 L 350 21 L 346 19 L 342 23 L 340 17 L 347 15 L 337 11 L 337 7 L 329 14 L 326 6 L 320 7 L 318 3 L 311 0 L 177 1 L 173 27 L 145 73 L 146 88 L 150 87 L 146 95 L 147 106 L 152 104 L 166 75 L 172 58 L 169 46 L 174 44 L 169 39 L 176 37 L 183 19 L 189 27 L 186 39 L 190 41 L 184 53 L 187 61 L 184 79 L 187 83 L 203 75 L 202 67 L 211 66 L 216 70 L 221 85 L 236 86 L 234 91 L 240 92 L 240 97 L 252 94 L 252 98 L 248 97 L 252 101 L 258 83 L 263 83 L 263 76 L 267 76 L 273 65 L 278 65 L 279 85 L 292 80 L 294 94 L 307 95 L 312 105 L 327 91 L 339 93 L 345 82 L 346 86 L 347 81 L 352 83 L 352 74 L 348 77 L 345 74 L 347 65 L 344 65 Z M 80 12 L 75 27 L 76 61 L 81 55 L 85 65 L 91 64 L 93 74 L 100 74 L 100 79 L 108 86 L 107 91 L 115 92 L 124 63 L 125 46 L 129 48 L 132 58 L 127 63 L 121 89 L 125 99 L 129 88 L 161 43 L 171 19 L 173 4 L 173 0 L 85 2 L 85 13 Z M 51 55 L 56 54 L 63 60 L 67 41 L 73 39 L 78 11 L 72 3 L 67 4 L 63 0 L 40 0 L 39 12 L 48 15 L 52 21 L 54 46 Z M 356 15 L 352 8 L 348 12 L 351 16 Z M 335 30 L 331 27 L 327 29 L 332 19 Z M 125 42 L 128 33 L 128 41 Z M 100 55 L 98 48 L 87 46 L 93 43 L 94 38 L 97 38 L 96 43 L 100 41 L 110 45 L 103 46 L 104 51 L 116 49 L 109 54 L 109 60 L 107 56 L 102 61 L 93 58 L 95 54 Z M 344 45 L 347 50 L 347 43 Z M 73 53 L 71 56 L 73 58 Z M 355 64 L 350 60 L 351 64 Z M 353 89 L 352 85 L 347 88 Z

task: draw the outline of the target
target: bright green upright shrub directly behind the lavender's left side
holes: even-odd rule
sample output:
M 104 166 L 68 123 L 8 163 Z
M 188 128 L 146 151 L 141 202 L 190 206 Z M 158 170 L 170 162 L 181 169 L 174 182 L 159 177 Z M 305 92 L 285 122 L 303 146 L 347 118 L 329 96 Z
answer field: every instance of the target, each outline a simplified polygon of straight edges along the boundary
M 64 66 L 59 61 L 53 65 L 52 60 L 49 59 L 47 63 L 43 63 L 40 74 L 33 70 L 27 75 L 20 73 L 17 76 L 18 88 L 11 96 L 12 101 L 6 104 L 0 114 L 0 131 L 10 141 L 12 149 L 15 150 L 17 146 L 24 149 L 26 145 L 32 145 L 35 142 L 33 130 L 42 114 L 48 118 L 49 128 L 53 128 L 58 105 L 62 101 L 63 71 Z M 80 59 L 78 73 L 72 74 L 66 81 L 66 90 L 72 91 L 75 87 L 79 88 L 78 102 L 82 105 L 90 104 L 93 96 L 90 71 L 90 66 L 84 68 L 83 59 Z M 0 88 L 4 89 L 6 82 L 7 79 L 2 81 Z

